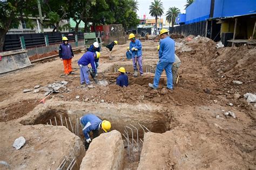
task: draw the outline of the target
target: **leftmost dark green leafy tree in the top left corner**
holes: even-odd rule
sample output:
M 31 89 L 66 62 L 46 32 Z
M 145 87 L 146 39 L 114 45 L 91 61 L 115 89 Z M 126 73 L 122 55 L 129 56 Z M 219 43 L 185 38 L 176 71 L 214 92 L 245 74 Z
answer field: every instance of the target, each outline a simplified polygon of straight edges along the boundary
M 13 26 L 19 25 L 21 19 L 29 21 L 28 16 L 36 16 L 38 13 L 37 1 L 7 0 L 0 1 L 0 51 L 3 50 L 6 33 Z M 30 24 L 32 27 L 33 24 Z

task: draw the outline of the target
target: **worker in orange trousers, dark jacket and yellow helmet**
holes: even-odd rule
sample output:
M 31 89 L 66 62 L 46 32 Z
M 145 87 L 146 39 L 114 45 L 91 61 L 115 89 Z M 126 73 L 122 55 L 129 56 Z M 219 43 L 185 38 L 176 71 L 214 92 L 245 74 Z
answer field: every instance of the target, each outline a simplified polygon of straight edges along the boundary
M 59 45 L 59 58 L 63 61 L 65 76 L 72 73 L 72 58 L 74 53 L 71 45 L 69 44 L 69 39 L 62 37 L 63 43 Z

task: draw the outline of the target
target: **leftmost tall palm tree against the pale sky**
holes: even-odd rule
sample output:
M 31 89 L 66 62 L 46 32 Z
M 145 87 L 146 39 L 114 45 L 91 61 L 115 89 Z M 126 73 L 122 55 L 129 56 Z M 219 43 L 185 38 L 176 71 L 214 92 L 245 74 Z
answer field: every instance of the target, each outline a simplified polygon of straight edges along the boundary
M 157 29 L 157 17 L 163 15 L 164 13 L 164 6 L 161 0 L 154 0 L 154 2 L 151 2 L 150 5 L 150 15 L 152 17 L 156 17 L 156 29 Z

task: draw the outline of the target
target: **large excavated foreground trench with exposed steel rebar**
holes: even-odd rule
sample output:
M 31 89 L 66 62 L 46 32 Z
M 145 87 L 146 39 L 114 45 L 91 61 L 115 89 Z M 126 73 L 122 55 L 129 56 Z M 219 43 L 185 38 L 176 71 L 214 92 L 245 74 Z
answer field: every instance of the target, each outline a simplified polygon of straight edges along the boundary
M 97 106 L 97 110 L 89 111 L 90 108 L 78 109 L 75 107 L 67 106 L 64 107 L 55 107 L 51 106 L 42 110 L 40 113 L 36 115 L 36 117 L 26 118 L 21 121 L 23 125 L 53 125 L 53 126 L 65 126 L 71 132 L 78 135 L 84 141 L 84 135 L 80 128 L 79 118 L 82 117 L 86 113 L 96 114 L 101 119 L 106 119 L 111 121 L 112 130 L 117 130 L 122 134 L 126 157 L 124 160 L 125 167 L 138 166 L 139 162 L 139 154 L 138 154 L 138 146 L 134 142 L 134 147 L 130 149 L 130 158 L 128 157 L 128 148 L 127 148 L 127 140 L 124 138 L 128 132 L 130 142 L 132 142 L 132 131 L 134 141 L 137 140 L 137 131 L 139 135 L 139 149 L 141 151 L 143 145 L 144 132 L 155 132 L 155 133 L 164 133 L 170 130 L 173 127 L 170 127 L 171 118 L 164 110 L 152 109 L 151 106 L 138 106 L 133 108 L 134 106 L 126 105 L 124 107 L 117 106 Z M 139 108 L 142 107 L 142 108 Z M 72 127 L 71 127 L 72 125 Z M 78 125 L 78 126 L 77 126 Z M 134 127 L 136 128 L 134 128 Z M 132 128 L 132 131 L 130 128 Z M 77 129 L 79 128 L 79 132 Z M 126 136 L 127 137 L 127 136 Z M 132 157 L 132 151 L 134 151 Z

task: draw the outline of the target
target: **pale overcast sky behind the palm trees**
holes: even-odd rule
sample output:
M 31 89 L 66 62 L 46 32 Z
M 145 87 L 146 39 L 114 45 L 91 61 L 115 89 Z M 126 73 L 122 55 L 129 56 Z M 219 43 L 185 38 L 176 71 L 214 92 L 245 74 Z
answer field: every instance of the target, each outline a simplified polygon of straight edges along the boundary
M 151 5 L 151 2 L 153 0 L 137 0 L 139 3 L 139 11 L 137 11 L 137 14 L 139 18 L 143 18 L 143 15 L 146 14 L 146 18 L 153 18 L 149 14 L 149 6 Z M 170 7 L 176 6 L 178 9 L 180 9 L 181 13 L 185 13 L 186 11 L 184 10 L 184 5 L 186 4 L 186 0 L 161 0 L 163 2 L 164 6 L 164 16 L 161 16 L 161 18 L 164 18 L 165 22 L 165 15 L 167 10 Z

